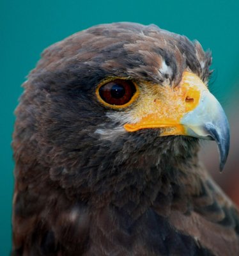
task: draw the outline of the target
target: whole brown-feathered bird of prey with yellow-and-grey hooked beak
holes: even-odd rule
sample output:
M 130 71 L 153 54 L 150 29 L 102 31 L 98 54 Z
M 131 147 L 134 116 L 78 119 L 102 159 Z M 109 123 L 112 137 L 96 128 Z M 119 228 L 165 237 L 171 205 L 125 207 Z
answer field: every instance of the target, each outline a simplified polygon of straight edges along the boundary
M 130 22 L 47 48 L 15 112 L 12 255 L 239 255 L 238 210 L 197 157 L 215 140 L 222 170 L 229 150 L 211 61 Z

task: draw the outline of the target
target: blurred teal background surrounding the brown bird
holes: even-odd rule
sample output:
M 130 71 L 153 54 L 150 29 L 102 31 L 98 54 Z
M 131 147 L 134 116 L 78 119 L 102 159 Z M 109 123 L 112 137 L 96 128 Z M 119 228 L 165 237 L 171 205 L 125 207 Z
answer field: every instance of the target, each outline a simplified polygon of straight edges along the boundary
M 201 158 L 239 205 L 239 1 L 17 1 L 0 0 L 0 255 L 11 248 L 13 111 L 29 70 L 43 49 L 95 24 L 132 21 L 197 39 L 211 49 L 215 70 L 210 90 L 231 125 L 231 150 L 223 173 L 215 143 L 203 142 Z

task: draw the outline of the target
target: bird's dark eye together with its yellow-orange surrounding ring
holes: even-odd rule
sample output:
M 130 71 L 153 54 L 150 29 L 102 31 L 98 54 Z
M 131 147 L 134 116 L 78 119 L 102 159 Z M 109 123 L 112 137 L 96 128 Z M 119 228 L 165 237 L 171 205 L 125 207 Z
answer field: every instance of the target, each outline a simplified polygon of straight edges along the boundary
M 96 88 L 96 96 L 104 106 L 119 109 L 126 108 L 137 98 L 137 85 L 127 79 L 114 79 L 101 83 Z

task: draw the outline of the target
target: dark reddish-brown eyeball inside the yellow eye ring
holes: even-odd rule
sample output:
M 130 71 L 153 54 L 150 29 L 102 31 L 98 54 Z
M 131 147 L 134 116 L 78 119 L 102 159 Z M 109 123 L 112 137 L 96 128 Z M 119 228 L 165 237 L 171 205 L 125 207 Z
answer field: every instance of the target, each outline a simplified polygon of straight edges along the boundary
M 98 93 L 104 102 L 114 106 L 123 106 L 130 102 L 136 92 L 132 81 L 116 79 L 101 86 Z

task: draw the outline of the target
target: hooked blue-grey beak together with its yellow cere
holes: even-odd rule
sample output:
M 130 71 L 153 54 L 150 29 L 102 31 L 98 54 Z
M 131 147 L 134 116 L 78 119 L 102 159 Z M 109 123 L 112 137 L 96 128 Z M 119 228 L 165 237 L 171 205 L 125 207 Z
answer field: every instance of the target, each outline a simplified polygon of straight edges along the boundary
M 150 108 L 140 111 L 139 122 L 125 124 L 125 129 L 133 132 L 160 128 L 160 136 L 185 135 L 215 140 L 222 171 L 229 152 L 229 124 L 222 106 L 203 81 L 191 72 L 184 72 L 180 84 L 173 91 L 169 87 L 164 89 L 163 100 L 155 100 L 155 95 L 151 97 Z

